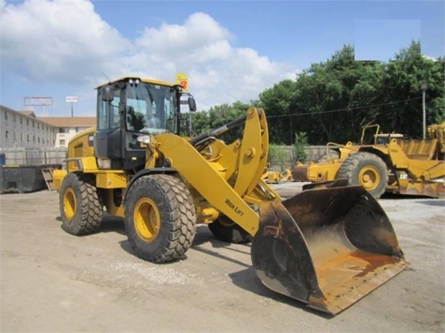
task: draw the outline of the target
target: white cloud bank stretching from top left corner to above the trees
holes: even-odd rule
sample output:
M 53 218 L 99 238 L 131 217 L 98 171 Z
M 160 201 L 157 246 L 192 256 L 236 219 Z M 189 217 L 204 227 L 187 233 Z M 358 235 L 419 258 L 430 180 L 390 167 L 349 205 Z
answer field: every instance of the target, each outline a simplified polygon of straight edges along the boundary
M 36 84 L 71 83 L 85 91 L 86 85 L 92 89 L 104 81 L 101 72 L 111 79 L 137 74 L 164 81 L 185 72 L 202 110 L 249 102 L 274 83 L 295 77 L 292 65 L 233 47 L 232 33 L 205 13 L 189 15 L 180 24 L 146 27 L 128 40 L 89 1 L 2 1 L 2 75 Z

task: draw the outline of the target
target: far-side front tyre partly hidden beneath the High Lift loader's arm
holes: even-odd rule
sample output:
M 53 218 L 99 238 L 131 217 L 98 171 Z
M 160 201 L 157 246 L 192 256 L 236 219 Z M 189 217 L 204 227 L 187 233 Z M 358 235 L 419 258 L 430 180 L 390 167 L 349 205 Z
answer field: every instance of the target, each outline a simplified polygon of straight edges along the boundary
M 220 241 L 235 244 L 249 243 L 252 241 L 252 236 L 248 232 L 225 215 L 219 216 L 219 218 L 210 223 L 208 227 L 213 236 Z

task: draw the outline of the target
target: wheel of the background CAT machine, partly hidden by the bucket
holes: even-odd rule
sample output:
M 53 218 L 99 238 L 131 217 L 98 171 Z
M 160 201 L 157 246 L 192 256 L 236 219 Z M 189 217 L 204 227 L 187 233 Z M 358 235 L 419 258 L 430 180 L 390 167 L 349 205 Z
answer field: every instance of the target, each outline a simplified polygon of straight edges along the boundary
M 338 169 L 337 178 L 348 179 L 349 185 L 361 185 L 378 199 L 388 183 L 387 165 L 375 154 L 358 152 L 346 159 Z

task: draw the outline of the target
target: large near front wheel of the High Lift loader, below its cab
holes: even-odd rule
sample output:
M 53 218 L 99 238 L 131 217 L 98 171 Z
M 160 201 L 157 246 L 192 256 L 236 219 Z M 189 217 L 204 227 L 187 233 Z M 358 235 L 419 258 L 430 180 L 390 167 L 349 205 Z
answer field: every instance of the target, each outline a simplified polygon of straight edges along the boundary
M 124 221 L 134 254 L 153 263 L 179 259 L 196 232 L 192 195 L 182 181 L 167 174 L 134 181 L 127 194 Z

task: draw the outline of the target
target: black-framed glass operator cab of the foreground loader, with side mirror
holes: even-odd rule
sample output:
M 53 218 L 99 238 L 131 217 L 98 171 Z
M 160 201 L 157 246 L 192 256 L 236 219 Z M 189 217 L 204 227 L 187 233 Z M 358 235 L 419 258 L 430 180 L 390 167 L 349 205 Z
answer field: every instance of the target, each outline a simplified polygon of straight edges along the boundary
M 146 161 L 138 136 L 179 133 L 182 87 L 163 81 L 123 78 L 97 88 L 94 151 L 99 168 L 139 170 Z M 189 110 L 196 102 L 189 95 Z

